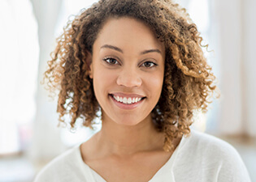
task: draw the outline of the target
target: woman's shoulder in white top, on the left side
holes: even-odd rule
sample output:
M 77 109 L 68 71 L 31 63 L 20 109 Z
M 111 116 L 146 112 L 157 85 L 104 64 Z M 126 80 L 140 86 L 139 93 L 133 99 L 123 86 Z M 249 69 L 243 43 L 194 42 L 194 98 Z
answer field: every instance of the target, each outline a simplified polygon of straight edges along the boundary
M 80 149 L 79 146 L 76 146 L 50 161 L 38 173 L 35 182 L 82 181 L 79 180 L 82 173 L 80 164 Z

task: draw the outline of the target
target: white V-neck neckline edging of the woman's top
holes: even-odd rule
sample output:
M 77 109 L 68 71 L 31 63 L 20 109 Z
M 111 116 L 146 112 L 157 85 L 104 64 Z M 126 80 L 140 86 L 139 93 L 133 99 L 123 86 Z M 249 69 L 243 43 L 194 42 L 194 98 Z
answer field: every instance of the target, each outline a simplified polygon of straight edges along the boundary
M 89 172 L 85 172 L 86 173 L 85 179 L 88 179 L 90 182 L 107 182 L 101 175 L 98 174 L 97 171 L 94 171 L 91 167 L 89 167 L 89 165 L 87 165 L 87 163 L 84 162 L 80 153 L 80 145 L 77 147 L 78 161 L 80 162 L 81 166 L 84 166 L 84 169 L 86 171 L 89 171 Z M 183 145 L 184 145 L 184 136 L 181 138 L 179 145 L 176 146 L 176 150 L 174 150 L 173 154 L 171 154 L 171 157 L 167 160 L 166 163 L 163 164 L 163 166 L 154 174 L 154 176 L 148 182 L 157 182 L 163 179 L 170 179 L 170 180 L 173 179 L 171 181 L 174 181 L 174 176 L 172 174 L 172 167 L 173 167 L 173 164 L 175 163 L 176 155 L 180 150 L 180 146 L 183 146 Z M 97 180 L 95 180 L 95 178 Z

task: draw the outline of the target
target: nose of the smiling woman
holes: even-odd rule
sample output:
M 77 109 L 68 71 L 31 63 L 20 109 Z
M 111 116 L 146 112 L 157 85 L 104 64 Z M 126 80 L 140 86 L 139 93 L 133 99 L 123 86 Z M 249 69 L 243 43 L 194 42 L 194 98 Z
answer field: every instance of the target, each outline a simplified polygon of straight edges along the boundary
M 142 84 L 142 80 L 140 75 L 137 73 L 137 70 L 132 70 L 128 68 L 120 72 L 116 83 L 119 86 L 124 87 L 140 87 Z

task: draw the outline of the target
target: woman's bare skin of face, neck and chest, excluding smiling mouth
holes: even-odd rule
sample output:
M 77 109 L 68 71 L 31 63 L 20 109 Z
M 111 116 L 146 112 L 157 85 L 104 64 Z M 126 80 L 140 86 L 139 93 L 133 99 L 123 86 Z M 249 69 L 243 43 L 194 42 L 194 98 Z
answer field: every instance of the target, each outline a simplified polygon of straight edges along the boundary
M 102 129 L 80 146 L 82 158 L 107 181 L 148 181 L 171 157 L 163 151 L 164 135 L 154 129 L 150 116 L 163 87 L 164 45 L 144 23 L 109 19 L 91 57 Z M 119 108 L 110 95 L 116 93 L 145 99 L 137 108 Z

